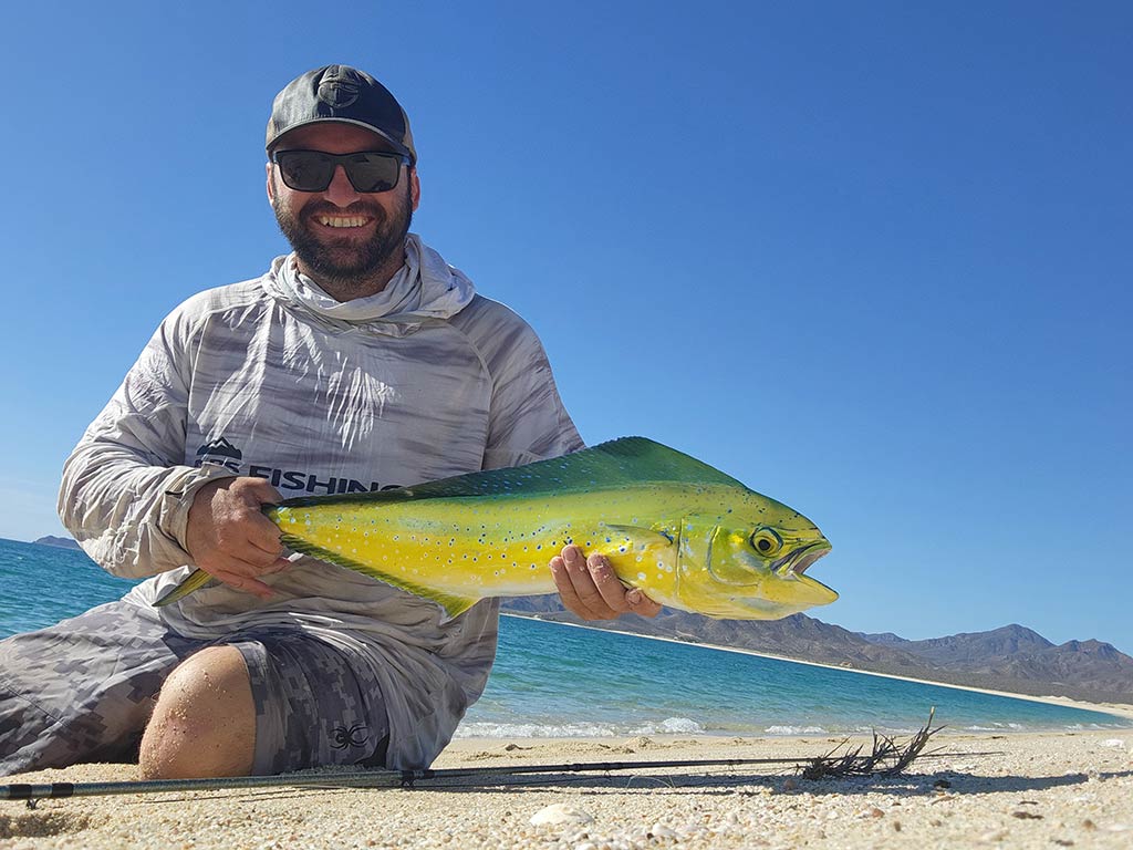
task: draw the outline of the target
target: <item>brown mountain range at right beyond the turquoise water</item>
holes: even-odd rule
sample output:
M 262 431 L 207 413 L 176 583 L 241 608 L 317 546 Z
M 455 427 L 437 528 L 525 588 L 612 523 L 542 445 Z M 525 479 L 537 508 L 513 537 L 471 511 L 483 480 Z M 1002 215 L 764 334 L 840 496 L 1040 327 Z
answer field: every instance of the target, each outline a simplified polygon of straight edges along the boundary
M 905 640 L 893 634 L 849 631 L 806 614 L 768 621 L 710 620 L 664 609 L 653 620 L 631 614 L 616 621 L 582 623 L 563 611 L 557 596 L 508 598 L 503 610 L 948 685 L 1133 704 L 1133 657 L 1099 640 L 1070 640 L 1056 646 L 1022 626 Z

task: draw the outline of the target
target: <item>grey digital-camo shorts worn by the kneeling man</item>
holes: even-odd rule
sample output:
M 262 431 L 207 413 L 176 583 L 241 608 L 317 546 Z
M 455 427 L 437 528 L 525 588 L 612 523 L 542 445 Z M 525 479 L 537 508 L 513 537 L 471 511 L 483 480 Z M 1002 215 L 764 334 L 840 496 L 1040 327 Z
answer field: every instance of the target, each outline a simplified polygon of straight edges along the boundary
M 185 638 L 155 611 L 119 601 L 0 641 L 0 775 L 136 760 L 165 678 L 216 645 L 248 665 L 253 773 L 384 765 L 389 721 L 370 660 L 280 627 Z

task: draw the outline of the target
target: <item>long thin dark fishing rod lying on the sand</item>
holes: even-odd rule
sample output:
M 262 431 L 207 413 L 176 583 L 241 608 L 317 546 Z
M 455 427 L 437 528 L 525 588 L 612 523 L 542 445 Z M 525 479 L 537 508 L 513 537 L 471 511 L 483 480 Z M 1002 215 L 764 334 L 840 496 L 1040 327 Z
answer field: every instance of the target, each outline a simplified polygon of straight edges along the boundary
M 925 754 L 934 756 L 982 756 L 994 753 Z M 752 765 L 804 765 L 813 758 L 700 758 L 667 762 L 585 762 L 573 764 L 513 765 L 500 767 L 449 767 L 423 771 L 358 771 L 346 773 L 291 774 L 283 776 L 221 776 L 214 779 L 143 780 L 137 782 L 51 782 L 0 785 L 0 800 L 36 800 L 108 794 L 223 791 L 256 788 L 415 788 L 418 782 L 454 779 L 489 779 L 551 773 L 611 773 L 671 767 L 743 767 Z

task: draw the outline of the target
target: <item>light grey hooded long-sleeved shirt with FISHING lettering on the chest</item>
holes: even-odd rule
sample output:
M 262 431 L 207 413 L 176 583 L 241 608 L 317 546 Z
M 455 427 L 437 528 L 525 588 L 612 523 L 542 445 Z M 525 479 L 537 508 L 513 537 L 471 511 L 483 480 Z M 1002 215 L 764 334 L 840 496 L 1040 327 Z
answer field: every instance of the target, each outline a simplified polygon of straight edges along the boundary
M 581 448 L 534 331 L 410 235 L 367 298 L 334 300 L 290 255 L 176 308 L 67 460 L 59 511 L 108 571 L 153 577 L 126 597 L 150 605 L 190 571 L 188 510 L 218 477 L 258 476 L 284 499 L 359 493 Z M 161 617 L 187 637 L 289 626 L 365 651 L 389 765 L 428 765 L 484 689 L 499 604 L 442 623 L 432 602 L 296 558 L 262 577 L 272 600 L 214 585 Z

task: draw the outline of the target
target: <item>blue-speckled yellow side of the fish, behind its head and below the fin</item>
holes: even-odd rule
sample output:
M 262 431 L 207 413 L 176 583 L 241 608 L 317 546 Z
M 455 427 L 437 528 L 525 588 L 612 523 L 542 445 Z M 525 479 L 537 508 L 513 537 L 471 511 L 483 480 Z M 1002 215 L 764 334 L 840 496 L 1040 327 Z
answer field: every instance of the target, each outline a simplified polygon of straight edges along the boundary
M 437 499 L 279 508 L 273 519 L 286 545 L 433 598 L 455 617 L 489 596 L 554 593 L 548 563 L 572 543 L 606 555 L 622 581 L 666 603 L 676 581 L 678 528 L 657 522 L 663 510 L 657 501 L 623 490 L 612 498 L 568 494 L 538 502 Z M 648 527 L 639 525 L 644 517 L 650 518 Z

